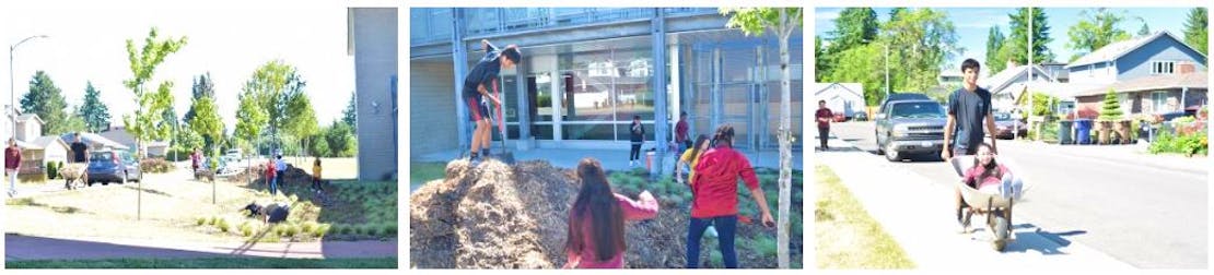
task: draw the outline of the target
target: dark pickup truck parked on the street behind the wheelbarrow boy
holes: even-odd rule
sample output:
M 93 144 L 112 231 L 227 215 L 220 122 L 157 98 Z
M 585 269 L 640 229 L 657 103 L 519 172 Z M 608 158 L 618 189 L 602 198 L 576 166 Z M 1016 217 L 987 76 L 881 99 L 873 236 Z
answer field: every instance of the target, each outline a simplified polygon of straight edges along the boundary
M 874 131 L 878 154 L 885 154 L 889 161 L 910 154 L 940 156 L 947 122 L 943 105 L 931 99 L 892 99 L 880 109 Z

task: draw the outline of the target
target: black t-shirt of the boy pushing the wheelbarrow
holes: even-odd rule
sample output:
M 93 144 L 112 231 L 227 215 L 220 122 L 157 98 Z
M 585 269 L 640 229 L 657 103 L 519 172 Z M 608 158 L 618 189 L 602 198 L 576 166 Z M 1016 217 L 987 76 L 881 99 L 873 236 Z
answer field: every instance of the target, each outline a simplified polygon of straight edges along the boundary
M 991 114 L 991 92 L 978 87 L 974 92 L 965 87 L 948 96 L 948 114 L 957 120 L 953 130 L 953 147 L 970 149 L 982 143 L 986 136 L 986 116 Z

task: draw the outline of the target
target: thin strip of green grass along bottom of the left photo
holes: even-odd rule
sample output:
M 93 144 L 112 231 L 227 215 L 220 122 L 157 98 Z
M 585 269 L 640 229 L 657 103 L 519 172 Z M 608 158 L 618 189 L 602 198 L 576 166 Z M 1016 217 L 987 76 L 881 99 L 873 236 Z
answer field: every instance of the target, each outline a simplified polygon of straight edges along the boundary
M 87 260 L 6 260 L 7 269 L 396 269 L 397 258 L 283 259 L 283 258 L 205 258 L 205 259 L 87 259 Z

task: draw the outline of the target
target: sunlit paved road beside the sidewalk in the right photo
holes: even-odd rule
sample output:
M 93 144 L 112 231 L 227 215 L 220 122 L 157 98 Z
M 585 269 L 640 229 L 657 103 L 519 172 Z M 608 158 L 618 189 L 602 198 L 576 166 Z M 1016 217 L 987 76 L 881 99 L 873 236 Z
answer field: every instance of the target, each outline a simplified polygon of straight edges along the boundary
M 838 124 L 832 134 L 875 155 L 872 122 Z M 1208 171 L 1165 166 L 1175 157 L 1122 154 L 1122 148 L 1059 148 L 1000 141 L 1032 185 L 1016 214 L 1139 268 L 1208 267 Z M 1193 162 L 1207 161 L 1195 159 Z M 900 164 L 946 185 L 955 181 L 936 157 Z

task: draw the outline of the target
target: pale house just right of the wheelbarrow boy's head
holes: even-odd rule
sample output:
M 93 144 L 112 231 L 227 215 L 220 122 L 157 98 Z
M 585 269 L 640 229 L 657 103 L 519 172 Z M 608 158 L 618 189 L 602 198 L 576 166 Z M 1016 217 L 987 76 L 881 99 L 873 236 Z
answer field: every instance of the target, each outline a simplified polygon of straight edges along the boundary
M 1040 65 L 1015 65 L 985 79 L 978 86 L 991 91 L 991 105 L 994 110 L 1012 111 L 1020 97 L 1027 94 L 1027 87 L 1043 82 L 1057 82 L 1057 80 Z

